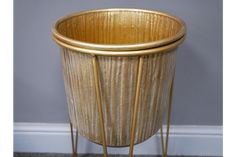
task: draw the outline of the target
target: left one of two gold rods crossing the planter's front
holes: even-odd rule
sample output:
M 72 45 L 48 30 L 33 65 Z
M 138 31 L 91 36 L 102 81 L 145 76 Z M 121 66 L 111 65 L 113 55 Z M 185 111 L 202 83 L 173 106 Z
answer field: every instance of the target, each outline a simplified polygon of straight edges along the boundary
M 102 97 L 100 93 L 100 79 L 99 79 L 98 64 L 97 64 L 96 56 L 93 56 L 92 64 L 93 64 L 95 88 L 96 88 L 97 103 L 98 103 L 99 125 L 100 125 L 100 132 L 101 132 L 102 143 L 103 143 L 103 153 L 104 153 L 104 157 L 107 157 L 106 134 L 105 134 L 105 129 L 104 129 L 103 114 L 102 114 Z

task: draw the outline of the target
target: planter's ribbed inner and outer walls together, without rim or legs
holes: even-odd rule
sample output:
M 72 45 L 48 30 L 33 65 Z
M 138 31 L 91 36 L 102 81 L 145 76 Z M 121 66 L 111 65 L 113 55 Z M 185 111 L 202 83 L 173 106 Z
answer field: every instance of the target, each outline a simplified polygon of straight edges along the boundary
M 62 21 L 58 31 L 98 44 L 133 44 L 175 35 L 180 24 L 168 16 L 144 12 L 87 13 Z M 69 116 L 89 140 L 102 144 L 92 55 L 61 48 Z M 97 56 L 102 113 L 108 146 L 130 144 L 139 57 Z M 135 142 L 154 135 L 168 108 L 175 52 L 144 56 Z

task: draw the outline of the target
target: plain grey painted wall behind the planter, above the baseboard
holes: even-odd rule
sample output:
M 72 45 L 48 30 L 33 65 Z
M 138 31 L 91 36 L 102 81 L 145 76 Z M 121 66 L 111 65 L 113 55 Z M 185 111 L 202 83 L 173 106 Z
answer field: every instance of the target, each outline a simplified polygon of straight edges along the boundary
M 187 38 L 177 55 L 172 123 L 222 125 L 221 0 L 15 0 L 14 121 L 68 122 L 51 25 L 72 12 L 109 7 L 162 10 L 186 22 Z

